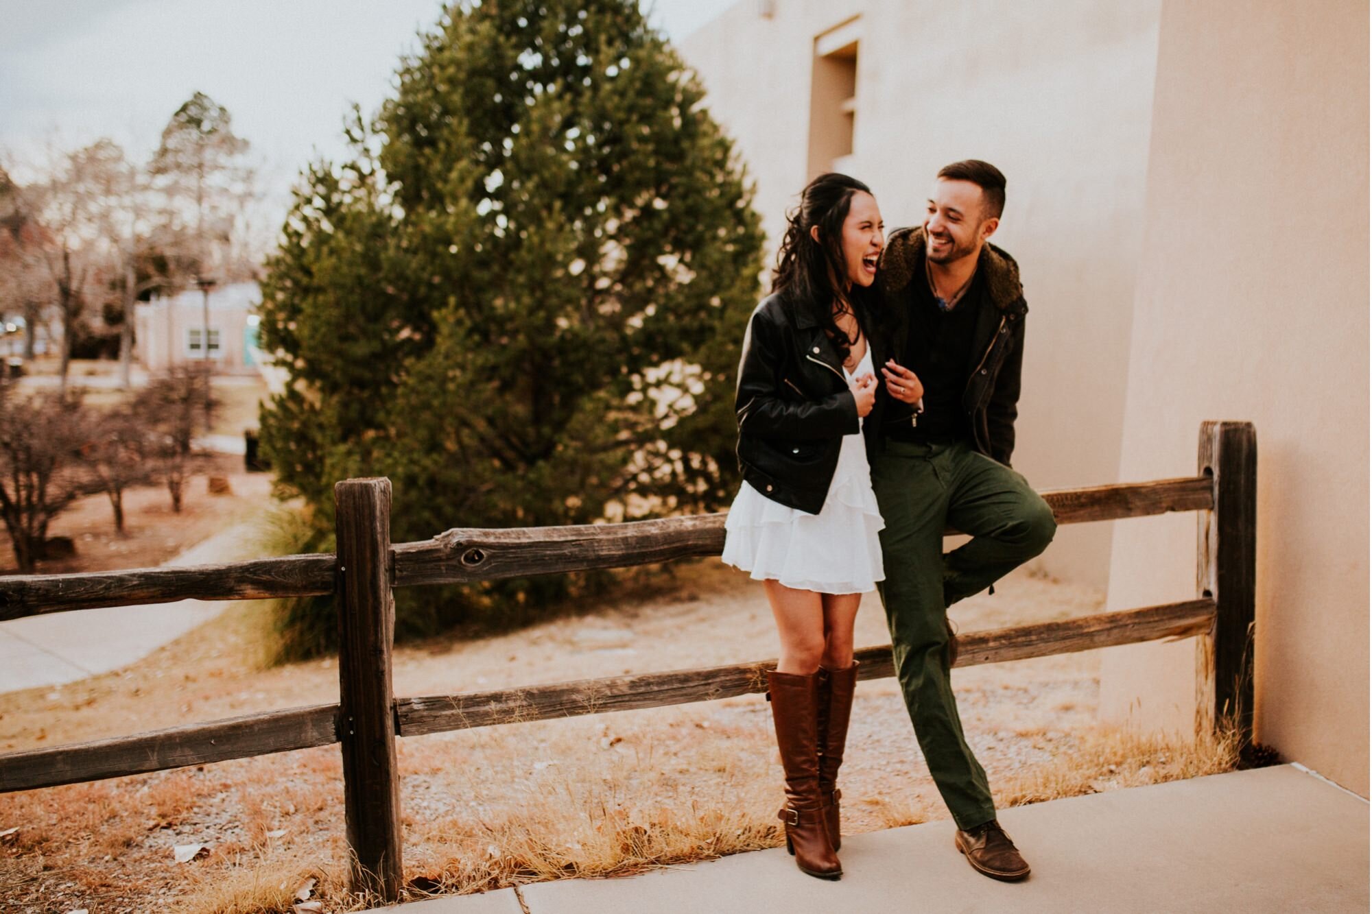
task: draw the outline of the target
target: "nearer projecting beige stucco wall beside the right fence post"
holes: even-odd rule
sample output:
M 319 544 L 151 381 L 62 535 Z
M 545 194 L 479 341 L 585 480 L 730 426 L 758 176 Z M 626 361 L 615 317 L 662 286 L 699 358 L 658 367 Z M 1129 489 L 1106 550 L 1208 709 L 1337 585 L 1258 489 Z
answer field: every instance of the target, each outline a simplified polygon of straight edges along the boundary
M 1255 423 L 1257 738 L 1367 796 L 1367 4 L 1168 0 L 1144 210 L 1120 476 Z M 1121 523 L 1109 604 L 1194 568 L 1191 516 Z M 1102 712 L 1188 730 L 1192 642 L 1107 651 Z

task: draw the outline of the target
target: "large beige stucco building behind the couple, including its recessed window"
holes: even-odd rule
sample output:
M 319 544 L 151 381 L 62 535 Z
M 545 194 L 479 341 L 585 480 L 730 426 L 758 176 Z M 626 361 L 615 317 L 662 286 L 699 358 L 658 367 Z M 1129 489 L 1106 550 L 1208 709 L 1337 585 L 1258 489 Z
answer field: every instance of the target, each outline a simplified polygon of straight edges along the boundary
M 1365 3 L 745 0 L 682 54 L 774 240 L 826 169 L 889 226 L 947 162 L 1004 170 L 1037 487 L 1190 475 L 1202 420 L 1255 423 L 1257 737 L 1365 796 Z M 1111 608 L 1190 598 L 1195 526 L 1067 527 L 1041 561 Z M 1104 652 L 1103 716 L 1190 727 L 1194 655 Z

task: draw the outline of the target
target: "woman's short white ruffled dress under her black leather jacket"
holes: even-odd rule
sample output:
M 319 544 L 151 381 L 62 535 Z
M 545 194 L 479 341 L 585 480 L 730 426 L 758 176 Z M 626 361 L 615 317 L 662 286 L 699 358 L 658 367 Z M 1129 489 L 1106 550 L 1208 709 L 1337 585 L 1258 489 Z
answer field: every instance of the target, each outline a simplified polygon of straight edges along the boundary
M 871 349 L 853 379 L 871 372 Z M 779 581 L 796 590 L 868 593 L 886 576 L 878 534 L 885 522 L 871 490 L 871 469 L 859 431 L 844 435 L 829 495 L 818 515 L 788 508 L 746 482 L 738 489 L 724 520 L 724 564 L 749 572 L 753 581 Z

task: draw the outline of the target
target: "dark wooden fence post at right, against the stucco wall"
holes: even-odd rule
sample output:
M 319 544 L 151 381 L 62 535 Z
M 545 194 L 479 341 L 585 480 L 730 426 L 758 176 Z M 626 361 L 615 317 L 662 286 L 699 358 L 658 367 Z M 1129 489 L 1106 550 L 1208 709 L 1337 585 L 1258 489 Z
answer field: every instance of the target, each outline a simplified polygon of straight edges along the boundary
M 1202 511 L 1196 587 L 1216 602 L 1214 630 L 1196 645 L 1196 725 L 1232 720 L 1253 741 L 1253 635 L 1257 581 L 1258 439 L 1253 423 L 1200 424 L 1200 475 L 1214 508 Z

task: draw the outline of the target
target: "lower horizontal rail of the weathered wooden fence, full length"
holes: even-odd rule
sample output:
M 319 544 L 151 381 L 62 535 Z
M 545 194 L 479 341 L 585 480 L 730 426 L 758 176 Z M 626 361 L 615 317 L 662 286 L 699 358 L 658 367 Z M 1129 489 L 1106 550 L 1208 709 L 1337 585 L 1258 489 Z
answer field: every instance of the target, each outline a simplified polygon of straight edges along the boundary
M 958 635 L 958 664 L 1024 660 L 1121 644 L 1205 634 L 1214 602 L 1188 600 Z M 863 679 L 895 675 L 890 645 L 856 652 Z M 586 714 L 661 708 L 764 692 L 775 660 L 702 670 L 580 679 L 552 685 L 395 700 L 402 737 L 524 723 Z M 0 755 L 0 793 L 29 790 L 189 764 L 246 759 L 338 742 L 339 705 L 250 714 L 130 737 Z

